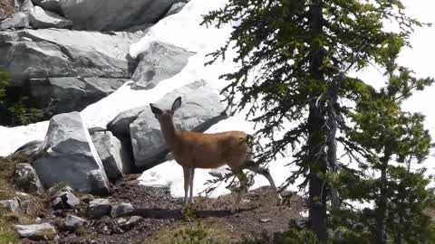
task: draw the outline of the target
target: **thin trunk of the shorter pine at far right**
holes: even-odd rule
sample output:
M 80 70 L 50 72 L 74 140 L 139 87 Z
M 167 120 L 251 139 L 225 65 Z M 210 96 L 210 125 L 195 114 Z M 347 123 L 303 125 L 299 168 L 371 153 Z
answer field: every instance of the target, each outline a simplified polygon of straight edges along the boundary
M 378 211 L 376 215 L 376 243 L 387 243 L 385 221 L 387 220 L 387 167 L 391 157 L 389 146 L 384 146 L 384 155 L 381 158 L 381 192 L 377 202 Z

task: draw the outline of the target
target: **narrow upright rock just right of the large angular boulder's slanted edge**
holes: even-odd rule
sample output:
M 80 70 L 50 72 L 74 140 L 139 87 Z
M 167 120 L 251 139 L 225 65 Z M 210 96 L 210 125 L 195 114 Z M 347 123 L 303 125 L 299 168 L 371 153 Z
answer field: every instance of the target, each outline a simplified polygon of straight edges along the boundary
M 110 131 L 93 133 L 92 142 L 102 159 L 102 165 L 109 180 L 116 181 L 123 173 L 131 173 L 132 162 L 128 152 L 123 148 L 121 141 Z

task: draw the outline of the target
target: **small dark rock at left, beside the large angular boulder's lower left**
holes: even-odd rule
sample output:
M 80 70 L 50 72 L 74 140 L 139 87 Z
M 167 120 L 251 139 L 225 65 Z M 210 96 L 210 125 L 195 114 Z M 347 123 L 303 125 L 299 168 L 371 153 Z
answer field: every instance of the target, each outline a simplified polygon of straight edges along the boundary
M 30 164 L 15 164 L 14 183 L 28 193 L 42 193 L 43 184 Z

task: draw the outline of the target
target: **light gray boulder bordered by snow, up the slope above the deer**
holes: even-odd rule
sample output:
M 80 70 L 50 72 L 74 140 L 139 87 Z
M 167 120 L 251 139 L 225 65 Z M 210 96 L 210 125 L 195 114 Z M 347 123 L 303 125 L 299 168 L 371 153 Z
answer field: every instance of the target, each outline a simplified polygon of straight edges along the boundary
M 147 51 L 140 54 L 138 67 L 131 80 L 136 81 L 138 88 L 152 89 L 161 80 L 178 74 L 193 54 L 166 43 L 153 42 Z

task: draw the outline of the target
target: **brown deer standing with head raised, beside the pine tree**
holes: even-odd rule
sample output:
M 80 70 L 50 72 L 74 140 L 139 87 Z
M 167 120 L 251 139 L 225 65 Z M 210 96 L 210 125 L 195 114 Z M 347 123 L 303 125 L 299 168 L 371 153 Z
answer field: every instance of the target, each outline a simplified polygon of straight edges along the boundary
M 282 197 L 276 192 L 276 186 L 269 171 L 260 168 L 252 160 L 251 146 L 247 144 L 247 134 L 242 131 L 228 131 L 215 134 L 203 134 L 176 130 L 173 122 L 174 112 L 181 106 L 181 97 L 175 99 L 170 110 L 162 110 L 150 103 L 152 113 L 160 122 L 161 132 L 175 160 L 183 167 L 184 202 L 189 206 L 193 202 L 193 177 L 195 168 L 218 168 L 227 164 L 240 182 L 240 190 L 232 211 L 238 210 L 242 192 L 247 192 L 247 175 L 243 169 L 262 174 L 275 191 L 277 204 Z M 189 200 L 188 192 L 190 189 Z

